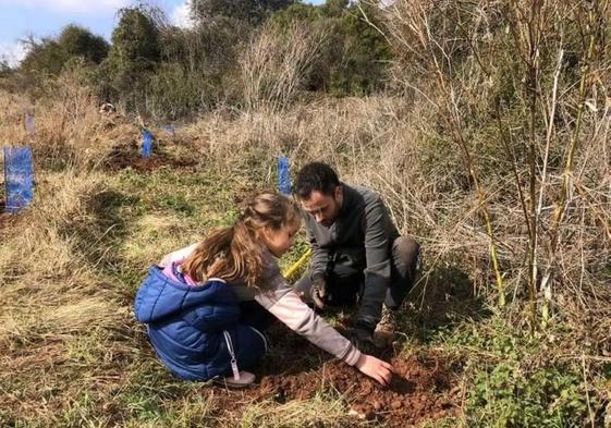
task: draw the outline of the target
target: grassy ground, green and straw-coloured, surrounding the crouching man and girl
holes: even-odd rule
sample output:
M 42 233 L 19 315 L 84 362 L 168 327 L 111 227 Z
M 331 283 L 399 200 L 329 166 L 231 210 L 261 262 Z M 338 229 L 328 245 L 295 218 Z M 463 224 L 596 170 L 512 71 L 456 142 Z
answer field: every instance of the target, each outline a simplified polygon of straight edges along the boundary
M 375 115 L 380 109 L 386 118 L 390 102 L 363 105 L 358 111 Z M 129 122 L 100 131 L 99 120 L 91 120 L 85 130 L 64 130 L 68 143 L 54 151 L 35 148 L 36 200 L 23 215 L 3 216 L 0 222 L 0 426 L 382 424 L 349 417 L 350 396 L 328 388 L 309 399 L 281 402 L 179 381 L 157 362 L 133 319 L 132 301 L 147 268 L 209 228 L 229 224 L 244 194 L 273 186 L 272 160 L 283 144 L 300 161 L 320 156 L 340 166 L 344 176 L 379 188 L 401 228 L 425 243 L 425 276 L 401 318 L 395 353 L 442 353 L 456 363 L 460 390 L 457 415 L 426 426 L 602 426 L 609 417 L 611 362 L 603 339 L 588 335 L 599 331 L 592 318 L 597 313 L 577 313 L 564 297 L 550 325 L 531 332 L 517 281 L 510 282 L 515 294 L 508 307 L 497 308 L 480 261 L 486 239 L 477 231 L 468 235 L 473 228 L 456 220 L 471 210 L 471 204 L 463 205 L 465 196 L 433 199 L 426 189 L 414 195 L 395 176 L 393 188 L 405 195 L 399 199 L 381 168 L 364 172 L 374 164 L 371 157 L 386 166 L 399 162 L 399 151 L 352 150 L 354 156 L 344 158 L 351 150 L 340 144 L 367 142 L 378 133 L 376 126 L 387 127 L 387 119 L 353 130 L 338 119 L 344 106 L 325 108 L 335 119 L 304 119 L 300 112 L 267 119 L 212 115 L 174 139 L 160 140 L 161 151 L 149 163 L 134 155 L 137 129 Z M 297 143 L 289 145 L 281 135 L 304 120 L 311 126 L 294 129 Z M 45 125 L 44 120 L 37 123 Z M 308 134 L 323 139 L 331 126 L 335 133 L 329 147 L 307 147 Z M 402 135 L 405 124 L 394 126 L 393 135 Z M 14 133 L 12 140 L 23 140 Z M 83 147 L 78 138 L 89 142 L 91 135 L 97 144 Z M 281 265 L 304 248 L 302 236 Z M 584 329 L 589 322 L 592 329 Z

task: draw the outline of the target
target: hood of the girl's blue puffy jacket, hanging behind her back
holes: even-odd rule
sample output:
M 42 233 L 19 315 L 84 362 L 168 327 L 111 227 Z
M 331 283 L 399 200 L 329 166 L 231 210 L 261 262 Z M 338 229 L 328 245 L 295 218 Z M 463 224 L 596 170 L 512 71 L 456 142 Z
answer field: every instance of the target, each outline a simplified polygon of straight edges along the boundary
M 136 294 L 134 310 L 139 322 L 159 322 L 204 304 L 235 302 L 235 294 L 222 280 L 192 286 L 166 277 L 161 269 L 151 267 Z

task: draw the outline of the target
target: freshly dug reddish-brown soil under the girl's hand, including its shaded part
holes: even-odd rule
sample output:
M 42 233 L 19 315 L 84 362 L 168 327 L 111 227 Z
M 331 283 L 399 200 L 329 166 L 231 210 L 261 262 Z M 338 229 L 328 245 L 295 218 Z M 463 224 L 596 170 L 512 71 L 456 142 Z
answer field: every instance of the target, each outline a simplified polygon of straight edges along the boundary
M 395 375 L 391 384 L 382 388 L 292 332 L 273 335 L 282 346 L 274 346 L 256 370 L 260 382 L 246 392 L 254 401 L 284 403 L 332 391 L 347 400 L 352 417 L 383 421 L 388 427 L 417 426 L 459 412 L 460 389 L 453 386 L 456 366 L 442 355 L 391 357 Z M 244 391 L 229 394 L 243 396 Z M 235 401 L 228 401 L 228 405 L 234 406 Z

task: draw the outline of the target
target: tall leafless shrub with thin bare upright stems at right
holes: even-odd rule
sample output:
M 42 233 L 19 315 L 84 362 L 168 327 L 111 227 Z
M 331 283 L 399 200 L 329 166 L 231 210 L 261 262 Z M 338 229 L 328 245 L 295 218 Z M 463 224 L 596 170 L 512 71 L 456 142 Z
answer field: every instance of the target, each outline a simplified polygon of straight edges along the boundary
M 414 106 L 426 101 L 432 120 L 457 144 L 488 234 L 499 236 L 499 250 L 506 254 L 499 260 L 505 274 L 527 284 L 533 310 L 539 301 L 548 319 L 549 305 L 558 304 L 551 284 L 572 277 L 559 261 L 572 247 L 570 231 L 582 230 L 579 208 L 598 219 L 604 248 L 611 237 L 609 216 L 600 209 L 608 204 L 600 199 L 604 191 L 596 186 L 592 201 L 594 189 L 577 192 L 575 180 L 576 170 L 587 175 L 587 147 L 609 126 L 608 108 L 601 107 L 609 76 L 608 2 L 396 1 L 384 14 L 380 30 L 399 57 L 395 84 Z M 508 193 L 511 187 L 515 193 Z M 497 208 L 501 201 L 523 215 L 510 223 L 522 223 L 512 237 Z M 498 279 L 494 259 L 492 252 Z

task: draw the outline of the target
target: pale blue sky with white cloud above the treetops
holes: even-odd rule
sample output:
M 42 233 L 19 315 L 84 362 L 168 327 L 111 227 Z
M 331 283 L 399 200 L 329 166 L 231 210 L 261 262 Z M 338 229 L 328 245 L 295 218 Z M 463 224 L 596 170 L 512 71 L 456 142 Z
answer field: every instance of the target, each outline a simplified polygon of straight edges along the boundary
M 149 0 L 161 8 L 170 22 L 188 26 L 190 0 Z M 323 0 L 310 0 L 322 3 Z M 110 40 L 117 11 L 134 0 L 0 0 L 0 61 L 16 65 L 25 56 L 20 39 L 53 37 L 69 24 L 88 28 Z

